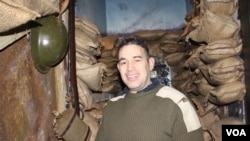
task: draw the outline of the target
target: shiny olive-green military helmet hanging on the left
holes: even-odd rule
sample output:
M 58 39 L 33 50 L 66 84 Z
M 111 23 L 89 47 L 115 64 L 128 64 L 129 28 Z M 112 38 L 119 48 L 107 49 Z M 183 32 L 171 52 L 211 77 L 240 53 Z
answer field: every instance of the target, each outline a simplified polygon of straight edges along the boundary
M 66 27 L 55 16 L 39 18 L 31 28 L 30 45 L 36 68 L 41 73 L 47 73 L 68 51 Z

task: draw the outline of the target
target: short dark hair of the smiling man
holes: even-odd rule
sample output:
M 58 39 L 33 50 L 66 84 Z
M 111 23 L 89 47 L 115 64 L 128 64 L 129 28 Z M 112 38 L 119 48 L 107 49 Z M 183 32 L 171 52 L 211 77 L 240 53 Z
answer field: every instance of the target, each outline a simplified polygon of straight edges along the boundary
M 117 57 L 119 57 L 120 49 L 126 45 L 138 45 L 145 50 L 147 57 L 150 57 L 147 43 L 138 37 L 119 37 L 114 44 L 114 48 L 117 50 Z

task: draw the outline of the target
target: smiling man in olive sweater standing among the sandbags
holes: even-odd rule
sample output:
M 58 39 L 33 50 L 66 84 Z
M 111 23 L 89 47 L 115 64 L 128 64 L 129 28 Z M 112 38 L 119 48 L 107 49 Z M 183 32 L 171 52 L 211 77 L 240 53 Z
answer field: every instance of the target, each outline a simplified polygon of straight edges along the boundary
M 117 68 L 126 85 L 104 107 L 96 141 L 203 141 L 195 109 L 150 73 L 155 60 L 138 38 L 120 39 Z

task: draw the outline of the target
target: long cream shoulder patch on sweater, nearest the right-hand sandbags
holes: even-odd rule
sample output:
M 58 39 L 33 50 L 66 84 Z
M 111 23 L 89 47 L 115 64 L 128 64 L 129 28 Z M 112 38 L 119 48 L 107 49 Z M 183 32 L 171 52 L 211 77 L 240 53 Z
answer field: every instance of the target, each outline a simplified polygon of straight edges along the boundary
M 169 98 L 179 106 L 188 132 L 201 127 L 199 117 L 193 105 L 183 93 L 169 86 L 164 86 L 157 92 L 156 96 Z

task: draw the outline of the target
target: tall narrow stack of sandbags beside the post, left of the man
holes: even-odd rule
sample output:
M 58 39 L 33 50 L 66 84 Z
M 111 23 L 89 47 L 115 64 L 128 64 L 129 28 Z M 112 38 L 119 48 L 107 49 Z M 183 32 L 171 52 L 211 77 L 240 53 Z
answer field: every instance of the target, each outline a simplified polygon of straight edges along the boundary
M 90 141 L 95 140 L 100 121 L 100 110 L 93 97 L 101 92 L 105 65 L 97 61 L 101 55 L 101 34 L 84 18 L 75 18 L 76 73 L 80 109 L 83 121 L 90 128 Z

